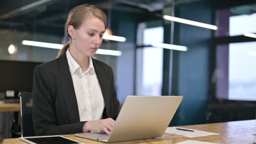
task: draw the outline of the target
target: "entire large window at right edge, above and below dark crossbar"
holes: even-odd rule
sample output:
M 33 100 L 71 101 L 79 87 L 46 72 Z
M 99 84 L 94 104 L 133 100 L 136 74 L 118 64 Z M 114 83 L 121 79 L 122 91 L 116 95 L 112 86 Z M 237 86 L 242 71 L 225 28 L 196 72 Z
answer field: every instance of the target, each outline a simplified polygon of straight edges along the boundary
M 213 82 L 217 99 L 256 101 L 256 4 L 216 10 L 216 67 Z

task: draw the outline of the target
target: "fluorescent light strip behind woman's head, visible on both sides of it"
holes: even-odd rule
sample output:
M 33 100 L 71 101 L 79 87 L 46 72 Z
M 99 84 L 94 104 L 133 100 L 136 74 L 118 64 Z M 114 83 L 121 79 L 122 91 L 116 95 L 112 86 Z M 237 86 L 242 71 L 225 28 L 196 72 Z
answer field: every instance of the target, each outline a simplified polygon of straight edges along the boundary
M 43 43 L 43 42 L 36 42 L 36 41 L 30 41 L 30 40 L 22 40 L 21 43 L 23 45 L 38 46 L 38 47 L 43 47 L 43 48 L 61 49 L 63 47 L 63 45 L 61 45 L 61 44 Z M 121 51 L 114 51 L 114 50 L 98 49 L 96 51 L 96 54 L 111 55 L 111 56 L 121 56 L 122 52 Z

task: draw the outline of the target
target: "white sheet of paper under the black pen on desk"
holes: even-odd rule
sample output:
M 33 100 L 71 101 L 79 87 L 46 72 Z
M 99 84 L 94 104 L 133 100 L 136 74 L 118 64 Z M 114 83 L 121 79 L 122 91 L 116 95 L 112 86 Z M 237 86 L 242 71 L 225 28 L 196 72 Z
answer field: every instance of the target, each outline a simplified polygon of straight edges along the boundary
M 186 136 L 189 138 L 194 138 L 194 137 L 199 137 L 199 136 L 211 136 L 211 135 L 219 134 L 219 133 L 210 133 L 207 131 L 198 131 L 198 130 L 193 130 L 193 129 L 188 129 L 188 128 L 182 128 L 182 129 L 187 129 L 187 130 L 192 130 L 192 131 L 181 131 L 181 130 L 177 130 L 176 128 L 178 128 L 178 127 L 168 127 L 165 130 L 165 133 L 175 134 L 175 135 L 179 135 L 179 136 Z

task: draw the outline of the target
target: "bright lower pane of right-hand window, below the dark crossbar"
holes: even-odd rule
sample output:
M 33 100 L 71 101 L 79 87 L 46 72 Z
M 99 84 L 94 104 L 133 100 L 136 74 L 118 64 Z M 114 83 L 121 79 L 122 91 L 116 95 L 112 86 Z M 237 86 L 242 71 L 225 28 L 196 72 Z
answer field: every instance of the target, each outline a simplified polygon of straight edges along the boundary
M 256 42 L 229 44 L 229 99 L 256 101 Z

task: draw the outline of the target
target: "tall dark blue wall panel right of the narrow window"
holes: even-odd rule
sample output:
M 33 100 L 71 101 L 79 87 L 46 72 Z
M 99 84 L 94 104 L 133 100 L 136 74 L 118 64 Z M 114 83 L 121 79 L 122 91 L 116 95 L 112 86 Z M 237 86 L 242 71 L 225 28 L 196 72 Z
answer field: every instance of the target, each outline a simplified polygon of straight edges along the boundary
M 179 18 L 213 24 L 213 8 L 209 1 L 176 6 Z M 173 52 L 172 94 L 184 96 L 171 125 L 205 123 L 210 83 L 210 50 L 212 30 L 175 23 L 174 44 L 188 51 Z

